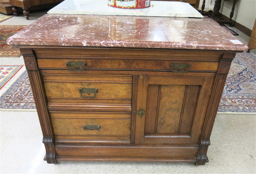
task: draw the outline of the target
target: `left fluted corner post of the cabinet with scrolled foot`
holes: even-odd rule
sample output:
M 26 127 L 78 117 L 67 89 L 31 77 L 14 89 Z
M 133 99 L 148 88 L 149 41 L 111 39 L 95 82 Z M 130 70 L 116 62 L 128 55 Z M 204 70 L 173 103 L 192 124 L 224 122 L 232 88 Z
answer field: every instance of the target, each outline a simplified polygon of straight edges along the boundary
M 46 150 L 45 159 L 47 163 L 56 164 L 57 161 L 55 156 L 54 131 L 51 117 L 48 112 L 48 103 L 43 77 L 39 72 L 39 68 L 37 65 L 36 53 L 31 48 L 20 48 L 20 51 L 24 58 L 25 66 L 28 72 L 31 89 L 37 108 L 37 115 L 43 133 L 43 143 L 45 144 Z

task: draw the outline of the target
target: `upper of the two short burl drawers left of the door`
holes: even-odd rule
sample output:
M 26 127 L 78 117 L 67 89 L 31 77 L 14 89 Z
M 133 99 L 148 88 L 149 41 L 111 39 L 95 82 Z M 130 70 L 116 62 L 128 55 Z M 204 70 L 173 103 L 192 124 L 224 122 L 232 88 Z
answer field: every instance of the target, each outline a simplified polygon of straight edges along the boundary
M 131 111 L 131 75 L 42 76 L 49 110 Z

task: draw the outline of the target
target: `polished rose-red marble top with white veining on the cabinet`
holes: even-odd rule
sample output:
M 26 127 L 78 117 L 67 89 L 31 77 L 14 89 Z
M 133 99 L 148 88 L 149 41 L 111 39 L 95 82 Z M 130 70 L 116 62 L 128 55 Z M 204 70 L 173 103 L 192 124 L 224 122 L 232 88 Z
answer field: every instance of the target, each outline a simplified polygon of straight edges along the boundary
M 246 51 L 211 19 L 46 14 L 11 36 L 12 45 Z

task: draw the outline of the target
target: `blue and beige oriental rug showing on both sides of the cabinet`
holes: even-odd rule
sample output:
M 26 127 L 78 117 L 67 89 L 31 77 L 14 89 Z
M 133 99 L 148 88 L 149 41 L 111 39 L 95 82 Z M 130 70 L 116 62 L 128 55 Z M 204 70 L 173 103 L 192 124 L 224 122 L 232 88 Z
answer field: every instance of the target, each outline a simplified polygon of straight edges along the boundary
M 256 57 L 251 53 L 236 54 L 227 77 L 219 112 L 256 112 L 255 66 Z M 0 97 L 1 108 L 36 108 L 27 71 Z

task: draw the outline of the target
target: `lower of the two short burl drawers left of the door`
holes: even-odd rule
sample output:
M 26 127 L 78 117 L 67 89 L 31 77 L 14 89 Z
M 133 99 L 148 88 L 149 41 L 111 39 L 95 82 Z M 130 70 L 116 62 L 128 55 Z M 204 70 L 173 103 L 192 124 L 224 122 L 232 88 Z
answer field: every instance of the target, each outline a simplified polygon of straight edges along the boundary
M 57 142 L 130 143 L 130 113 L 50 112 L 50 115 Z M 88 125 L 100 127 L 90 130 L 92 126 Z

